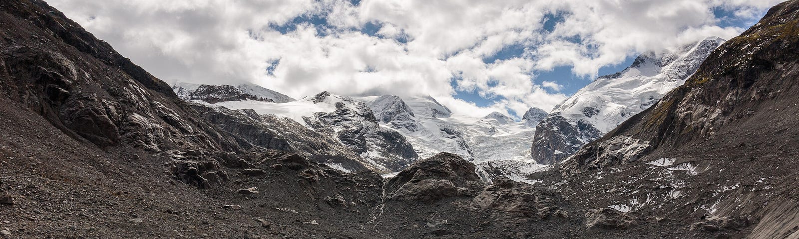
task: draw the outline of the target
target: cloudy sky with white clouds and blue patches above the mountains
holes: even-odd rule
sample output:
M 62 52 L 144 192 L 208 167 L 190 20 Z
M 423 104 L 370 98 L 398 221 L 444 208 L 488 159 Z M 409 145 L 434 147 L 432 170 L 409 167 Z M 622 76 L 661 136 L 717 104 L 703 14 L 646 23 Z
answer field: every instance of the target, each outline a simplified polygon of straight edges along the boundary
M 46 0 L 167 82 L 551 110 L 646 51 L 737 36 L 781 0 Z

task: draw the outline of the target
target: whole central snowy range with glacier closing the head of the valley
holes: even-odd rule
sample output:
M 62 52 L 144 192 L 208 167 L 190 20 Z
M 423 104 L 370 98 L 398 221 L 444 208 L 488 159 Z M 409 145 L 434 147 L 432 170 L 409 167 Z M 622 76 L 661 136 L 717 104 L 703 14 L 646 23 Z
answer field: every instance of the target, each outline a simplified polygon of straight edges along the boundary
M 519 170 L 532 162 L 528 143 L 535 135 L 533 126 L 546 116 L 539 108 L 531 108 L 520 122 L 499 112 L 483 117 L 463 116 L 430 96 L 344 97 L 321 92 L 277 103 L 252 98 L 254 95 L 232 86 L 179 83 L 173 85 L 173 90 L 185 100 L 195 100 L 198 107 L 201 104 L 208 108 L 202 112 L 210 121 L 239 135 L 252 136 L 248 140 L 263 142 L 261 147 L 290 147 L 304 155 L 344 155 L 382 172 L 401 170 L 419 157 L 451 152 L 474 163 L 524 163 L 505 170 L 508 175 L 521 175 Z M 245 134 L 242 128 L 268 137 Z M 319 143 L 309 140 L 314 137 L 323 144 L 336 141 L 336 145 L 316 149 Z M 497 165 L 491 167 L 492 172 L 498 172 Z

